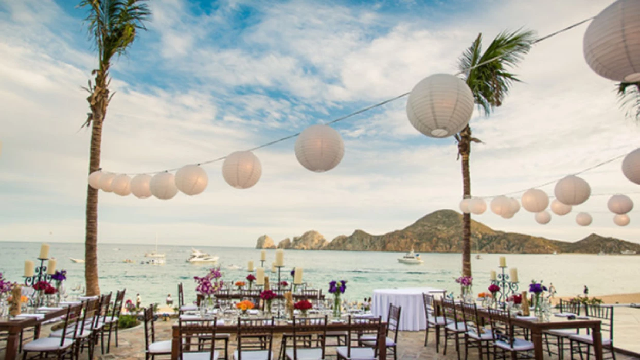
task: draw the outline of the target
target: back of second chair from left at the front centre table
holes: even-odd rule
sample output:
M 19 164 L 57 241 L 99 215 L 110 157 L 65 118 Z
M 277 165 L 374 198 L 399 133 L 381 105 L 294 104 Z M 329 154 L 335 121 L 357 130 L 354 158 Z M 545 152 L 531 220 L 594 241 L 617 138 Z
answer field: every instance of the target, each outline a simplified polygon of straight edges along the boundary
M 237 352 L 236 360 L 242 360 L 243 351 L 268 350 L 267 360 L 271 360 L 273 345 L 273 325 L 271 318 L 238 318 L 237 322 Z M 251 359 L 251 356 L 248 356 Z

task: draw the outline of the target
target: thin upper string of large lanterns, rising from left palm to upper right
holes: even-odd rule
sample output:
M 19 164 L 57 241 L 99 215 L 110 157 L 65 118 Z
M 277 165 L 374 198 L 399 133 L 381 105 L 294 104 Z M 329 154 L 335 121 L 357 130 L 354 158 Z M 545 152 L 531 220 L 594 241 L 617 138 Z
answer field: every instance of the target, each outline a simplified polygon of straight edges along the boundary
M 529 44 L 529 46 L 530 46 L 530 45 L 534 45 L 534 44 L 536 44 L 536 43 L 539 43 L 539 42 L 541 42 L 541 41 L 543 41 L 543 40 L 547 40 L 548 38 L 552 38 L 553 36 L 559 35 L 559 34 L 561 34 L 561 33 L 564 33 L 565 31 L 568 31 L 568 30 L 570 30 L 570 29 L 573 29 L 574 27 L 580 26 L 580 25 L 584 24 L 585 22 L 588 22 L 589 20 L 592 20 L 593 18 L 594 18 L 594 17 L 589 17 L 589 19 L 584 19 L 584 20 L 582 20 L 582 21 L 580 21 L 580 22 L 576 22 L 575 24 L 572 24 L 572 25 L 570 25 L 570 26 L 564 27 L 563 29 L 560 29 L 560 30 L 558 30 L 558 31 L 555 31 L 554 33 L 550 33 L 550 34 L 548 34 L 548 35 L 546 35 L 546 36 L 542 36 L 541 38 L 538 38 L 538 39 L 536 39 L 536 40 L 532 41 L 532 42 Z M 527 45 L 525 45 L 525 46 L 527 46 Z M 463 70 L 460 70 L 460 72 L 456 73 L 455 75 L 461 75 L 461 74 L 464 74 L 465 72 L 468 72 L 469 70 L 473 70 L 474 68 L 480 67 L 480 66 L 482 66 L 482 65 L 485 65 L 485 64 L 490 63 L 490 62 L 492 62 L 492 61 L 495 61 L 495 60 L 497 60 L 497 59 L 503 58 L 504 56 L 508 56 L 509 54 L 511 54 L 511 53 L 513 53 L 513 52 L 516 52 L 516 51 L 518 51 L 518 50 L 520 50 L 520 47 L 515 47 L 515 48 L 514 48 L 514 49 L 512 49 L 511 51 L 505 52 L 504 54 L 500 54 L 499 56 L 495 56 L 495 58 L 488 59 L 488 60 L 483 61 L 483 62 L 481 62 L 481 63 L 478 63 L 478 64 L 476 64 L 476 65 L 474 65 L 474 66 L 472 66 L 472 67 L 468 67 L 468 68 L 465 68 L 465 69 L 463 69 Z M 364 108 L 362 108 L 362 109 L 360 109 L 360 110 L 354 111 L 353 113 L 349 113 L 349 114 L 346 114 L 346 115 L 344 115 L 344 116 L 342 116 L 342 117 L 340 117 L 340 118 L 337 118 L 337 119 L 334 119 L 334 120 L 328 121 L 327 123 L 324 123 L 324 125 L 331 125 L 331 124 L 333 124 L 333 123 L 337 123 L 337 122 L 339 122 L 339 121 L 346 120 L 346 119 L 348 119 L 348 118 L 352 118 L 353 116 L 356 116 L 356 115 L 358 115 L 358 114 L 365 113 L 365 112 L 367 112 L 367 111 L 369 111 L 369 110 L 376 109 L 376 107 L 384 106 L 384 105 L 386 105 L 386 104 L 388 104 L 388 103 L 390 103 L 390 102 L 394 102 L 394 101 L 396 101 L 396 100 L 399 100 L 399 99 L 401 99 L 401 98 L 406 97 L 407 95 L 409 95 L 409 93 L 410 93 L 410 92 L 402 93 L 402 94 L 400 94 L 400 95 L 397 95 L 396 97 L 392 97 L 392 98 L 389 98 L 389 99 L 384 100 L 384 101 L 382 101 L 382 102 L 378 102 L 378 104 L 374 104 L 374 105 L 371 105 L 371 106 L 364 107 Z M 275 144 L 277 144 L 277 143 L 282 143 L 282 141 L 286 141 L 286 140 L 292 139 L 293 137 L 296 137 L 296 136 L 298 136 L 298 135 L 300 135 L 300 134 L 301 134 L 301 132 L 296 132 L 296 134 L 291 134 L 291 135 L 289 135 L 289 136 L 281 137 L 280 139 L 276 139 L 276 140 L 270 141 L 269 143 L 265 143 L 265 144 L 262 144 L 262 145 L 259 145 L 259 146 L 255 146 L 255 147 L 250 148 L 250 149 L 248 149 L 248 150 L 246 150 L 246 151 L 259 150 L 259 149 L 261 149 L 261 148 L 265 148 L 265 147 L 267 147 L 267 146 L 275 145 Z M 205 164 L 211 164 L 211 163 L 213 163 L 213 162 L 218 162 L 218 161 L 221 161 L 221 160 L 224 160 L 224 159 L 227 159 L 227 156 L 226 156 L 226 155 L 225 155 L 225 156 L 223 156 L 223 157 L 218 157 L 217 159 L 212 159 L 212 160 L 206 160 L 206 161 L 203 161 L 203 162 L 198 162 L 198 163 L 196 163 L 196 165 L 200 166 L 200 165 L 205 165 Z M 125 174 L 126 174 L 126 175 L 146 175 L 146 174 L 150 175 L 150 174 L 164 173 L 164 172 L 169 172 L 169 171 L 176 171 L 176 170 L 178 170 L 178 169 L 180 169 L 180 168 L 166 169 L 166 170 L 161 170 L 161 171 L 147 171 L 146 173 L 125 173 Z

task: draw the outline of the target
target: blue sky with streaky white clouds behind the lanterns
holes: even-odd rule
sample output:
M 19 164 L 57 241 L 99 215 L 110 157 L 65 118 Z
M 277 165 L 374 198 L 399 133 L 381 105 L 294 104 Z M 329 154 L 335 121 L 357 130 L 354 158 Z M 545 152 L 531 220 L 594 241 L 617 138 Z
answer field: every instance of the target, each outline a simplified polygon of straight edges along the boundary
M 90 132 L 87 93 L 96 55 L 71 0 L 0 0 L 0 241 L 84 241 Z M 539 36 L 588 19 L 610 0 L 209 1 L 155 0 L 152 19 L 111 70 L 101 166 L 114 173 L 179 168 L 246 150 L 454 74 L 483 34 Z M 614 83 L 582 55 L 586 25 L 534 45 L 514 70 L 522 83 L 503 106 L 470 122 L 472 194 L 524 191 L 638 146 Z M 454 139 L 413 129 L 406 98 L 335 123 L 345 155 L 312 173 L 294 139 L 257 150 L 262 177 L 234 189 L 221 162 L 207 190 L 172 200 L 99 195 L 99 242 L 255 246 L 317 230 L 331 240 L 356 229 L 382 234 L 435 210 L 458 210 Z M 640 242 L 636 213 L 616 226 L 609 195 L 640 200 L 621 159 L 582 175 L 595 196 L 541 225 L 474 216 L 496 230 L 575 241 L 590 233 Z M 541 187 L 551 196 L 554 184 Z M 518 193 L 519 197 L 522 192 Z M 577 212 L 593 216 L 575 223 Z

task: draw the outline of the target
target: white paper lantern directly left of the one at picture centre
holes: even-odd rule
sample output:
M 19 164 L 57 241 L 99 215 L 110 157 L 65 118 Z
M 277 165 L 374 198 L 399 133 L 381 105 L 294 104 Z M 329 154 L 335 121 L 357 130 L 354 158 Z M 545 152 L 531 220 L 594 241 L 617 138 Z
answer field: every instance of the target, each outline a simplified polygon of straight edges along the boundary
M 333 130 L 331 128 L 329 129 Z M 297 142 L 296 155 L 298 155 Z M 340 155 L 340 157 L 342 157 L 342 155 Z M 340 162 L 340 160 L 338 160 L 338 162 Z M 307 166 L 305 166 L 305 168 L 307 168 Z M 225 178 L 227 184 L 235 187 L 236 189 L 248 189 L 252 187 L 253 185 L 255 185 L 255 183 L 258 182 L 258 180 L 260 180 L 261 175 L 262 165 L 260 165 L 260 160 L 258 159 L 258 157 L 253 155 L 252 152 L 230 153 L 230 155 L 227 156 L 227 159 L 225 159 L 225 162 L 223 162 L 222 164 L 222 176 Z

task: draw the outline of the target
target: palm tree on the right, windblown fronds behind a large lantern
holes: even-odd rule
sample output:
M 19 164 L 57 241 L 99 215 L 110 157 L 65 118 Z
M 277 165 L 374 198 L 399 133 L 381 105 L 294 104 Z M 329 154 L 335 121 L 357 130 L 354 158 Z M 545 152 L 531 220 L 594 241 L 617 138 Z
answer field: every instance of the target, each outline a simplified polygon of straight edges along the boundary
M 482 52 L 482 34 L 479 34 L 468 49 L 458 59 L 458 68 L 463 73 L 467 85 L 474 94 L 474 101 L 485 116 L 502 105 L 513 82 L 519 82 L 514 74 L 508 72 L 515 67 L 531 49 L 534 33 L 532 31 L 503 31 Z M 471 143 L 480 143 L 472 136 L 467 125 L 455 136 L 458 142 L 458 159 L 462 158 L 463 198 L 471 196 L 471 177 L 469 174 L 469 155 Z M 462 274 L 471 276 L 471 215 L 463 214 L 462 229 Z

